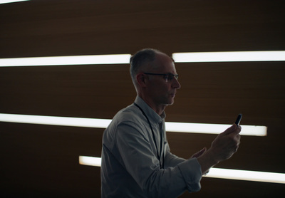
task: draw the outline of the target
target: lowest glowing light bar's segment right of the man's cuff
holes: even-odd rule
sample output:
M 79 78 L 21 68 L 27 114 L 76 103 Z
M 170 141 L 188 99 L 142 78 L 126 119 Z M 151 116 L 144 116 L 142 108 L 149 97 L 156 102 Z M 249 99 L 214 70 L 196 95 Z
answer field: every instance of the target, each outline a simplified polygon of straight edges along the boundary
M 204 177 L 285 184 L 285 174 L 276 172 L 258 172 L 249 170 L 211 168 L 209 170 L 209 173 Z

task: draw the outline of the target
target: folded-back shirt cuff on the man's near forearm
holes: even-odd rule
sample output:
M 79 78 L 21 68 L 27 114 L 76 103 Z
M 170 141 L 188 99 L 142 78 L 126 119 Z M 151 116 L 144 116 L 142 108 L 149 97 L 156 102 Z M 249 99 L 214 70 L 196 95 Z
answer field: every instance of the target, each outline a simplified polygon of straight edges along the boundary
M 197 192 L 201 189 L 202 170 L 197 158 L 191 158 L 178 165 L 187 184 L 189 192 Z

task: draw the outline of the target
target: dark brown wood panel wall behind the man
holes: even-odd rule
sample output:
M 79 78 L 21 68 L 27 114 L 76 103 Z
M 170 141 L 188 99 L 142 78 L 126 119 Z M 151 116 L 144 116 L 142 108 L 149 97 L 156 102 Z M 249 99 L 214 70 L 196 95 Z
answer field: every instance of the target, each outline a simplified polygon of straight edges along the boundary
M 285 50 L 282 1 L 25 1 L 0 5 L 0 58 Z M 182 88 L 167 121 L 266 125 L 217 167 L 285 172 L 285 63 L 177 63 Z M 133 102 L 128 64 L 0 68 L 0 113 L 113 118 Z M 0 197 L 100 197 L 103 129 L 0 123 Z M 215 135 L 167 132 L 190 157 Z M 284 184 L 202 179 L 182 197 L 283 197 Z

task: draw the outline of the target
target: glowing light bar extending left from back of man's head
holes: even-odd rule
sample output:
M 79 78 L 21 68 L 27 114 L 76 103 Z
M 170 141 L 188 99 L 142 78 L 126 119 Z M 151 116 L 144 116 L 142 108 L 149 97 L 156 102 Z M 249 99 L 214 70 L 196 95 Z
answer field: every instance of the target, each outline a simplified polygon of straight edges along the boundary
M 130 63 L 130 54 L 0 58 L 0 67 L 66 66 L 66 65 L 123 64 L 123 63 Z

